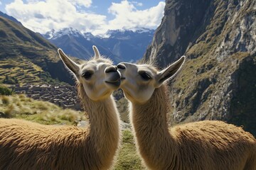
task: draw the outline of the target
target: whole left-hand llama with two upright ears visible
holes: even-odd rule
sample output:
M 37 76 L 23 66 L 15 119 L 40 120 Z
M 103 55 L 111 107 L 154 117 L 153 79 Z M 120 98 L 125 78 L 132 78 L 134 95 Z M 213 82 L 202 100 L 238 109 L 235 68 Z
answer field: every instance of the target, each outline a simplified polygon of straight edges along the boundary
M 119 147 L 120 128 L 112 92 L 121 74 L 100 56 L 77 64 L 58 49 L 60 59 L 77 79 L 78 95 L 89 128 L 40 125 L 0 119 L 0 169 L 111 169 Z

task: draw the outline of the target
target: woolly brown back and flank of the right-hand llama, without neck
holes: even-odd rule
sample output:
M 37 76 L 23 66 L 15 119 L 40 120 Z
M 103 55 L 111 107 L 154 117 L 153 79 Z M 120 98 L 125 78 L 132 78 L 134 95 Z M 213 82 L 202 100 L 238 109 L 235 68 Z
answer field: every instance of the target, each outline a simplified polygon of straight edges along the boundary
M 181 158 L 176 164 L 184 169 L 235 170 L 244 169 L 248 161 L 255 162 L 255 137 L 235 125 L 206 120 L 170 131 L 178 145 L 177 157 Z

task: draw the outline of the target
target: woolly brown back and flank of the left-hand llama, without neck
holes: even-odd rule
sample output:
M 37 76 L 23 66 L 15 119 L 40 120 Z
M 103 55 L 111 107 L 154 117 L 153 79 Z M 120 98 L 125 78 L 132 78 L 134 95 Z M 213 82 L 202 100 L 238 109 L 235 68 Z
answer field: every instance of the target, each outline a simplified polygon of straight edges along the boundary
M 87 134 L 71 126 L 0 119 L 0 169 L 98 169 L 100 162 L 92 162 L 97 155 L 86 154 L 95 153 L 84 145 Z

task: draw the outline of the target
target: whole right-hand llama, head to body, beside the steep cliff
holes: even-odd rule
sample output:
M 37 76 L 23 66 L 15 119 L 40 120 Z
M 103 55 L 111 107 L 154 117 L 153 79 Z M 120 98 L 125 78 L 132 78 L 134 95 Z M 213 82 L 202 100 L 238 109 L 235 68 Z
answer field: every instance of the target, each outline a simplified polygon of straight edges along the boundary
M 150 64 L 120 63 L 121 88 L 130 103 L 137 150 L 148 169 L 255 170 L 256 140 L 235 125 L 204 120 L 168 128 L 164 83 L 185 57 L 158 71 Z

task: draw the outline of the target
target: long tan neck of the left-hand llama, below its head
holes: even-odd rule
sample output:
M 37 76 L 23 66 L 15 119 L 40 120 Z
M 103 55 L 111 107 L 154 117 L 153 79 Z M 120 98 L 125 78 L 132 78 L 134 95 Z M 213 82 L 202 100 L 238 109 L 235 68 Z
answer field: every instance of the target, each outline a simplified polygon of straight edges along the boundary
M 79 85 L 78 85 L 79 86 Z M 82 85 L 78 88 L 85 112 L 90 120 L 90 142 L 102 157 L 111 157 L 119 145 L 119 114 L 114 98 L 92 101 Z M 105 155 L 103 155 L 105 154 Z

